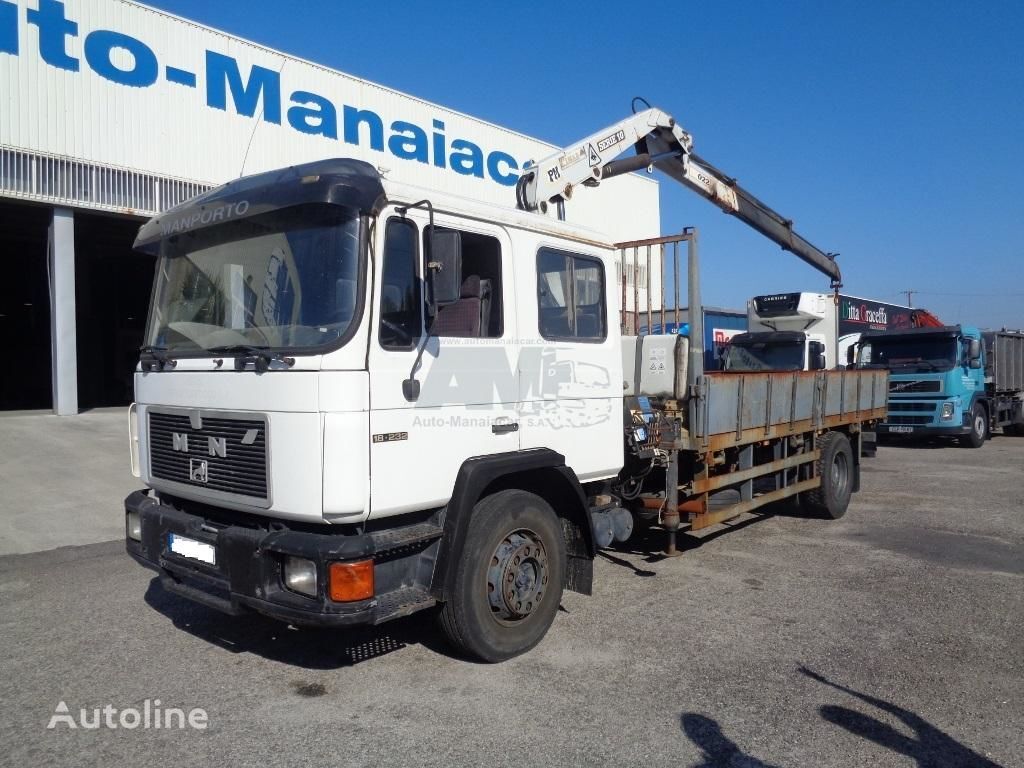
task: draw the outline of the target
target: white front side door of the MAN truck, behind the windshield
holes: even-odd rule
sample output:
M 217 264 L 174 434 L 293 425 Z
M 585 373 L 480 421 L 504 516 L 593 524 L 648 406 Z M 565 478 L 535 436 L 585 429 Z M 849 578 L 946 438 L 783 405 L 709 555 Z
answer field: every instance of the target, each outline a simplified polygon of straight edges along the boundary
M 431 317 L 423 291 L 425 214 L 385 213 L 380 222 L 368 355 L 374 515 L 441 506 L 466 459 L 519 449 L 508 236 L 435 217 L 438 228 L 459 232 L 462 274 L 459 299 Z M 419 392 L 409 399 L 413 380 Z

